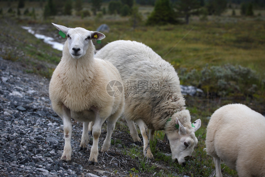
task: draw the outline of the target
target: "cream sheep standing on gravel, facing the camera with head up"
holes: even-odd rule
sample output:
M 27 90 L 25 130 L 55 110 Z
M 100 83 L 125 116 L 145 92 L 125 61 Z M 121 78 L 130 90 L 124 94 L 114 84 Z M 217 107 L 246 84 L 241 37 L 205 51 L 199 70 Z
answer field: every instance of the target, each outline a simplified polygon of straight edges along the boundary
M 68 37 L 63 46 L 62 59 L 53 72 L 49 86 L 52 108 L 63 119 L 65 145 L 61 160 L 71 161 L 72 117 L 83 122 L 80 150 L 86 150 L 88 124 L 94 122 L 89 164 L 95 165 L 101 126 L 108 118 L 107 135 L 101 149 L 103 152 L 110 146 L 112 131 L 124 107 L 123 90 L 120 90 L 119 96 L 110 96 L 106 87 L 110 81 L 121 81 L 121 78 L 112 64 L 94 58 L 95 46 L 91 39 L 103 39 L 104 34 L 80 27 L 53 25 Z

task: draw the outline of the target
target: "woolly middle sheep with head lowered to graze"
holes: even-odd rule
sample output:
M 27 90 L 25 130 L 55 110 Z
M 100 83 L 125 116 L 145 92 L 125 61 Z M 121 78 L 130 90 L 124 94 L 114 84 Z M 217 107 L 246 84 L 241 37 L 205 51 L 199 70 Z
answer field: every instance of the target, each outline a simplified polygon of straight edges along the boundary
M 200 128 L 201 120 L 191 124 L 173 66 L 150 47 L 136 41 L 108 43 L 96 57 L 112 63 L 120 72 L 125 94 L 123 115 L 134 142 L 141 144 L 136 122 L 143 137 L 144 154 L 152 158 L 148 141 L 153 140 L 155 130 L 165 130 L 173 161 L 177 159 L 184 166 L 184 158 L 191 155 L 198 142 L 194 132 Z

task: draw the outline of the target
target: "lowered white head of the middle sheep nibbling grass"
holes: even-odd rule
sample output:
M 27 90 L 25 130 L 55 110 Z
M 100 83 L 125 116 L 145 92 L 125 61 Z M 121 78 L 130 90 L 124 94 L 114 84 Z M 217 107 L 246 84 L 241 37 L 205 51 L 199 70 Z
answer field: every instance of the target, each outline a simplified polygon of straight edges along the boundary
M 198 139 L 195 137 L 194 132 L 200 128 L 201 120 L 198 119 L 194 121 L 194 127 L 185 128 L 176 118 L 176 125 L 179 126 L 178 133 L 177 130 L 172 127 L 169 128 L 170 130 L 165 131 L 165 133 L 169 140 L 173 162 L 177 160 L 177 162 L 184 167 L 186 165 L 185 158 L 192 154 L 194 146 L 198 143 Z

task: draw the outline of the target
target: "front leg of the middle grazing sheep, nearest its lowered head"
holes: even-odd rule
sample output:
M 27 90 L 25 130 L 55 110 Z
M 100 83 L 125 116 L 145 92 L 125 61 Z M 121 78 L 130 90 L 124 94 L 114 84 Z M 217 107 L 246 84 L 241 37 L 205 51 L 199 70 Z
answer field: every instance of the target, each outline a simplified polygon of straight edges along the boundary
M 148 141 L 148 134 L 147 134 L 147 132 L 148 132 L 147 126 L 142 119 L 138 119 L 135 122 L 137 123 L 137 125 L 140 128 L 140 131 L 141 131 L 141 134 L 142 134 L 142 137 L 144 140 L 144 155 L 148 158 L 153 158 L 153 154 L 151 152 L 151 149 L 150 149 L 150 147 L 148 147 L 149 141 Z

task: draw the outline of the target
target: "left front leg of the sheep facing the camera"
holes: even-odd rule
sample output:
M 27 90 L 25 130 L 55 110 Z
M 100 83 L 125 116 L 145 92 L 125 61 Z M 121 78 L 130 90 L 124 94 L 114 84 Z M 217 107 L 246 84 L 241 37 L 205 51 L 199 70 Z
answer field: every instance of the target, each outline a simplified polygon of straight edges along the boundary
M 71 136 L 72 136 L 72 122 L 71 122 L 71 113 L 70 109 L 67 109 L 63 105 L 63 113 L 60 116 L 63 119 L 63 134 L 64 134 L 64 147 L 63 155 L 61 160 L 66 161 L 67 163 L 71 162 L 72 148 L 71 148 Z

